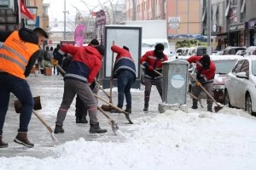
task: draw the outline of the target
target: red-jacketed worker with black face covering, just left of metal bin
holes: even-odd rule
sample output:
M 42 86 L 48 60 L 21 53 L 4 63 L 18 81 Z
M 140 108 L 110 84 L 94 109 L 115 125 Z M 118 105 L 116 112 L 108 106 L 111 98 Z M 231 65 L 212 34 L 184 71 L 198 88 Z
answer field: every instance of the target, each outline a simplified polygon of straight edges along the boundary
M 158 43 L 155 45 L 154 50 L 146 52 L 146 54 L 144 54 L 140 59 L 140 64 L 145 67 L 143 111 L 148 111 L 148 103 L 152 84 L 156 86 L 162 99 L 163 77 L 160 76 L 156 71 L 162 73 L 162 62 L 168 60 L 166 54 L 164 54 L 164 49 L 165 46 L 162 43 Z

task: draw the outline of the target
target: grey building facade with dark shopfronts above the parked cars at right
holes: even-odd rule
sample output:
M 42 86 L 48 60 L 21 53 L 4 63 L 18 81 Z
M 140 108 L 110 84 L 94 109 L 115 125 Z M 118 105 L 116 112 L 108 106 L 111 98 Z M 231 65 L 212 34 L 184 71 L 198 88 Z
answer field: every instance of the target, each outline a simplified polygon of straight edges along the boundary
M 202 29 L 207 32 L 207 0 L 202 0 Z M 224 49 L 228 46 L 256 45 L 255 0 L 212 0 L 211 33 Z

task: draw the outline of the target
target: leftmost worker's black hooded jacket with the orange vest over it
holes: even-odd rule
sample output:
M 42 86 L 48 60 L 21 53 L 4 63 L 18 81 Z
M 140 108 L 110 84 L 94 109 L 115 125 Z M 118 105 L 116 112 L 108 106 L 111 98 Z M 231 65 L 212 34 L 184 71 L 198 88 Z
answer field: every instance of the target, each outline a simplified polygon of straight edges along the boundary
M 9 37 L 12 37 L 14 39 L 10 40 Z M 10 47 L 9 42 L 7 41 L 17 41 L 16 43 L 17 45 L 15 43 L 11 43 L 12 47 Z M 14 75 L 15 77 L 20 77 L 22 79 L 25 79 L 25 77 L 28 77 L 32 70 L 33 65 L 38 59 L 38 56 L 43 55 L 38 46 L 38 36 L 36 35 L 36 33 L 34 33 L 34 31 L 27 28 L 21 28 L 19 31 L 0 31 L 0 42 L 3 42 L 3 47 L 4 46 L 6 47 L 5 49 L 3 48 L 0 49 L 0 54 L 11 57 L 17 61 L 22 60 L 17 58 L 17 56 L 19 55 L 20 55 L 20 58 L 24 58 L 23 61 L 20 62 L 21 63 L 20 66 L 16 64 L 13 65 L 8 60 L 4 60 L 4 59 L 2 60 L 1 64 L 3 64 L 4 62 L 7 62 L 7 63 L 0 65 L 0 71 L 8 72 L 9 74 Z M 19 46 L 18 45 L 19 43 L 22 45 Z M 16 51 L 18 53 L 14 54 L 10 52 L 10 50 Z M 15 67 L 18 69 L 17 70 L 11 69 Z M 25 67 L 25 68 L 20 70 L 20 67 Z

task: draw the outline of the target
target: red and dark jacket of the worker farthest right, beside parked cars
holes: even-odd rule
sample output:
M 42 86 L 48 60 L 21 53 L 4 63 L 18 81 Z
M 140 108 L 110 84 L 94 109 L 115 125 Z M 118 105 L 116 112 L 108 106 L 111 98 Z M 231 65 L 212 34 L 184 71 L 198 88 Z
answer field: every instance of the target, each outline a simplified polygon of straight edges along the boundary
M 200 62 L 201 58 L 202 58 L 202 56 L 192 56 L 192 57 L 189 57 L 189 59 L 187 59 L 187 61 L 189 63 L 196 63 L 196 71 L 200 71 L 201 70 L 201 62 Z M 213 79 L 215 76 L 215 71 L 216 71 L 215 64 L 211 60 L 209 69 L 201 71 L 201 77 L 204 77 L 206 82 L 213 82 Z

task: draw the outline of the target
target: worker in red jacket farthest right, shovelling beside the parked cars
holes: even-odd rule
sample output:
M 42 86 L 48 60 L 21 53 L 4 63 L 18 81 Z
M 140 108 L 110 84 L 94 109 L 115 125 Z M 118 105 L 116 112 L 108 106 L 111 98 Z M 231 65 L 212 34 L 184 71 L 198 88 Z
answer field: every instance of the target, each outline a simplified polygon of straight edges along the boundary
M 193 94 L 195 97 L 199 97 L 201 94 L 201 87 L 206 88 L 207 92 L 213 97 L 213 80 L 215 76 L 216 67 L 215 64 L 210 59 L 208 54 L 204 56 L 192 56 L 187 59 L 189 63 L 196 64 L 196 79 L 198 83 L 193 87 Z M 197 109 L 197 99 L 193 99 L 192 109 Z M 207 95 L 207 111 L 212 112 L 212 99 Z

